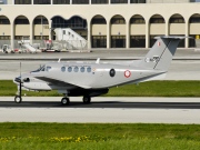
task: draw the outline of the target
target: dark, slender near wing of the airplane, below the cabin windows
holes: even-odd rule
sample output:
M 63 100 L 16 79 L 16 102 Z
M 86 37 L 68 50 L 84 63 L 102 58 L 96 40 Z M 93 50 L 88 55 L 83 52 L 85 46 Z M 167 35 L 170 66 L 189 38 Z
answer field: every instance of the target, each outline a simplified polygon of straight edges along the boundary
M 91 87 L 82 86 L 82 84 L 77 84 L 73 82 L 66 82 L 59 79 L 53 79 L 51 77 L 34 77 L 37 79 L 40 79 L 42 81 L 49 82 L 49 84 L 56 84 L 60 87 L 72 87 L 72 88 L 83 88 L 83 89 L 91 89 Z

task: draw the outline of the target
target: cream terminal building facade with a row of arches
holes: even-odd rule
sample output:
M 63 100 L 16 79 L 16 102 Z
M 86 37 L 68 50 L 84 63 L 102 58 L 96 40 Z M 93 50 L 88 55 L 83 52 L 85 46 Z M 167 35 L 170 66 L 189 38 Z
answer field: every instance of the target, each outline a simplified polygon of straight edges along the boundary
M 150 48 L 157 36 L 200 38 L 198 0 L 1 0 L 0 40 L 54 40 L 71 28 L 88 48 Z M 179 47 L 196 47 L 186 39 Z

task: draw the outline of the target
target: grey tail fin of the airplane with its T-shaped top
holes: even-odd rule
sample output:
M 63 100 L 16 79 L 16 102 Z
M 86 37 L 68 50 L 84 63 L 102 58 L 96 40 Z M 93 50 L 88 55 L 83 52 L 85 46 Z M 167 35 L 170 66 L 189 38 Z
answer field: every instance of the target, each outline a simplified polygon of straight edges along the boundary
M 156 37 L 157 41 L 140 67 L 156 70 L 168 70 L 179 42 L 188 37 Z

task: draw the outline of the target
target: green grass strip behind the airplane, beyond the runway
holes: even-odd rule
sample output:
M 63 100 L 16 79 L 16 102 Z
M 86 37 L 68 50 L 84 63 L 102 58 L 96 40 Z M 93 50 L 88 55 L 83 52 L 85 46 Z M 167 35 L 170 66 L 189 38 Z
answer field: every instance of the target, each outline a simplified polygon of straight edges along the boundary
M 200 81 L 149 81 L 111 88 L 106 97 L 200 97 Z M 17 86 L 11 80 L 0 80 L 0 97 L 16 96 Z M 23 91 L 29 97 L 58 97 L 56 90 L 32 92 Z

